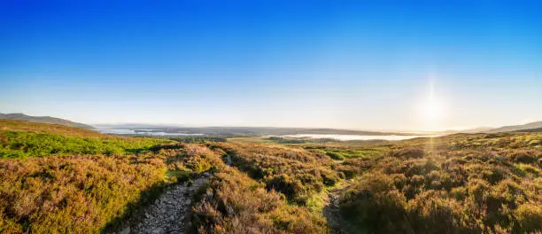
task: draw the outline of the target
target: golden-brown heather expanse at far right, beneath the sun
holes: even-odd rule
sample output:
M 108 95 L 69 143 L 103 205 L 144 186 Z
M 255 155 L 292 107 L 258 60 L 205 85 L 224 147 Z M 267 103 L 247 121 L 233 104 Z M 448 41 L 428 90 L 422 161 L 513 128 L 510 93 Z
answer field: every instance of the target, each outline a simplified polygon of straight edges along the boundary
M 542 231 L 541 135 L 415 139 L 377 157 L 340 199 L 376 233 Z

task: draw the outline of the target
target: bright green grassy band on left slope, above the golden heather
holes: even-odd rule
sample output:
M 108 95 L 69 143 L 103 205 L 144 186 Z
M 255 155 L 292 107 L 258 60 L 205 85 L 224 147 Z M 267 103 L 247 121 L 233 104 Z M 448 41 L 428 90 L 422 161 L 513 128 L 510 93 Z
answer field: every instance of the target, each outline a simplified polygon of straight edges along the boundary
M 0 158 L 71 154 L 130 154 L 167 140 L 111 136 L 58 124 L 0 120 Z

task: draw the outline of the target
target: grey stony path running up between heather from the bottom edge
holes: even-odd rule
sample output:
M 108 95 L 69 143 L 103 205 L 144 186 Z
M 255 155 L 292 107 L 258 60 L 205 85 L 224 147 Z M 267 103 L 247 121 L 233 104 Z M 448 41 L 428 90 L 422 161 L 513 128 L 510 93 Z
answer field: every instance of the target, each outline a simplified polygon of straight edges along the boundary
M 209 175 L 202 175 L 193 183 L 177 183 L 165 191 L 141 214 L 121 225 L 119 234 L 186 233 L 190 223 L 192 195 L 205 183 Z

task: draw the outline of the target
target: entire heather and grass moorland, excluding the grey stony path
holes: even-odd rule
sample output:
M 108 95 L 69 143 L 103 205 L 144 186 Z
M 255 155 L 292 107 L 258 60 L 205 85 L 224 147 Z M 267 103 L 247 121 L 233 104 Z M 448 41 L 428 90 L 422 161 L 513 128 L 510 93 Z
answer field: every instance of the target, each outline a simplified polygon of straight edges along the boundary
M 205 172 L 193 232 L 542 231 L 536 132 L 172 141 L 0 120 L 0 158 L 2 233 L 114 230 L 169 185 Z

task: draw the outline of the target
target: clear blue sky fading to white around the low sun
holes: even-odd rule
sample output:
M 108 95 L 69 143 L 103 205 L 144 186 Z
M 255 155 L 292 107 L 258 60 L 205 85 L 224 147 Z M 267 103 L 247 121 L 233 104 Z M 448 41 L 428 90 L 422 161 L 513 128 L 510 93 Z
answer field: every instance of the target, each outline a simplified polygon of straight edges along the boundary
M 539 2 L 1 1 L 0 113 L 345 129 L 538 121 Z

